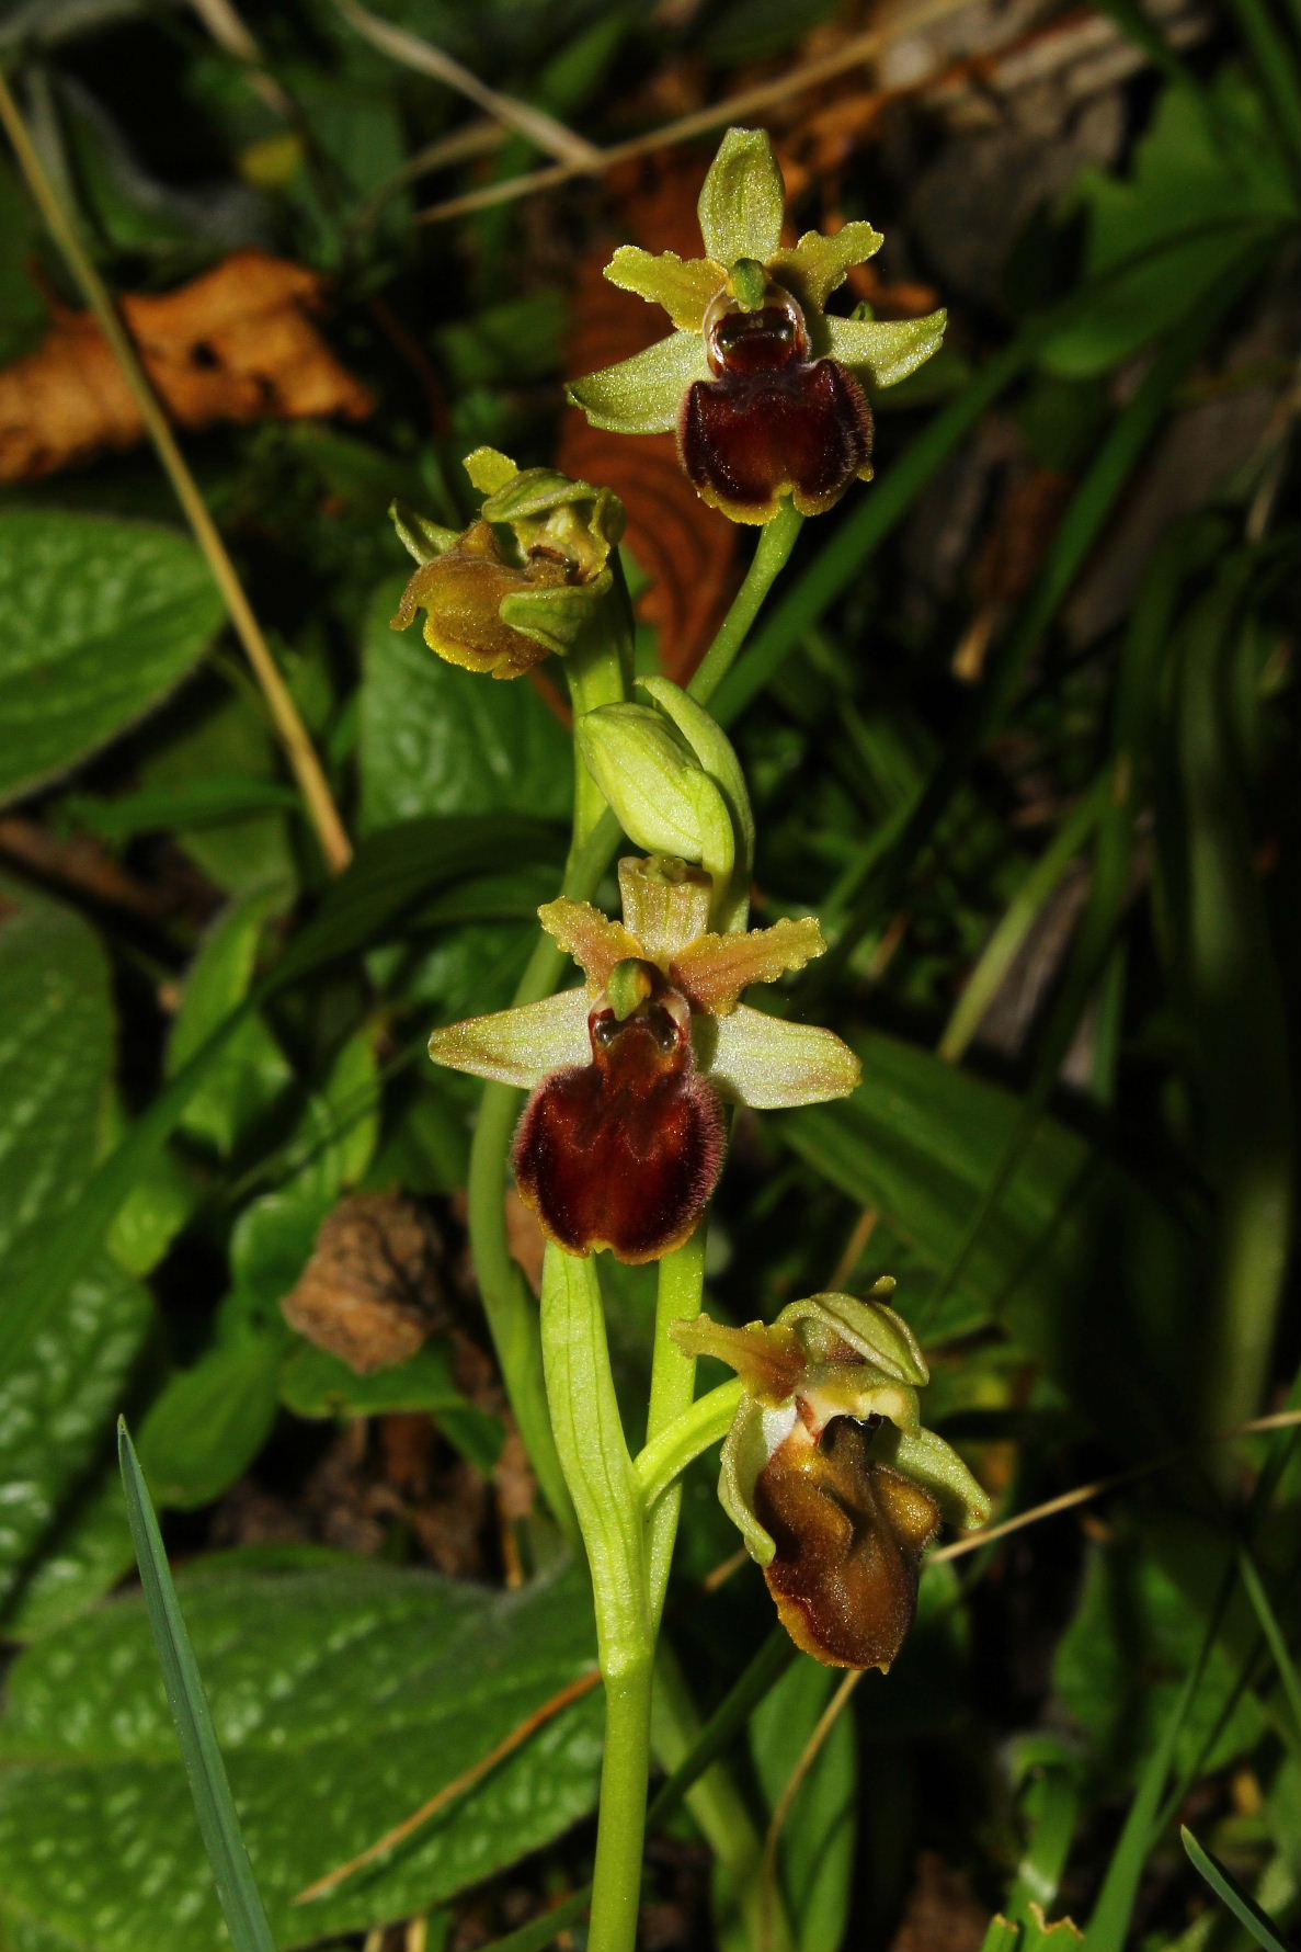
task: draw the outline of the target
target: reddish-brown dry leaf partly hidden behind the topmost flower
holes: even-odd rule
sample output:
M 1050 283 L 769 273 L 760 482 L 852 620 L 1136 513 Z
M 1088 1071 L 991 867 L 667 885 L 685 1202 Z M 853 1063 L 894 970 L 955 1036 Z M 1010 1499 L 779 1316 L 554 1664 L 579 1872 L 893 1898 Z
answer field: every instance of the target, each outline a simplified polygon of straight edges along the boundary
M 620 242 L 696 258 L 700 174 L 698 156 L 677 150 L 612 172 Z M 579 267 L 568 346 L 573 379 L 628 359 L 663 338 L 667 328 L 659 306 L 607 283 L 601 273 L 609 258 L 611 248 L 603 246 Z M 572 408 L 560 435 L 558 465 L 566 474 L 601 482 L 620 496 L 628 509 L 628 547 L 651 578 L 638 609 L 659 630 L 665 671 L 685 685 L 735 591 L 735 523 L 700 502 L 671 433 L 603 433 Z

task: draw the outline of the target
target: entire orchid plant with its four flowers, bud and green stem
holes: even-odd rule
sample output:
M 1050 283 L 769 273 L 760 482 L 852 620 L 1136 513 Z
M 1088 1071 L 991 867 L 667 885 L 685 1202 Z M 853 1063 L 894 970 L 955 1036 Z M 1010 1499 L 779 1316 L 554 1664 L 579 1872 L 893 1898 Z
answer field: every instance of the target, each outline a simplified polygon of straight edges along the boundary
M 956 1452 L 921 1427 L 926 1366 L 884 1298 L 891 1282 L 862 1300 L 792 1302 L 770 1325 L 729 1327 L 702 1308 L 733 1109 L 811 1105 L 860 1083 L 833 1031 L 741 1001 L 825 941 L 813 915 L 747 927 L 755 822 L 708 699 L 800 521 L 870 478 L 872 394 L 944 330 L 942 312 L 827 312 L 882 238 L 850 223 L 786 246 L 782 223 L 767 135 L 728 131 L 700 193 L 704 256 L 624 246 L 607 269 L 663 305 L 673 334 L 572 388 L 599 427 L 675 427 L 700 498 L 763 525 L 685 691 L 644 677 L 634 695 L 622 509 L 609 490 L 478 449 L 466 468 L 482 509 L 462 535 L 394 508 L 417 560 L 394 627 L 423 611 L 431 650 L 493 679 L 558 656 L 573 703 L 573 837 L 564 886 L 538 910 L 544 935 L 515 1005 L 437 1029 L 429 1054 L 488 1081 L 470 1169 L 478 1279 L 538 1480 L 591 1569 L 607 1700 L 593 1952 L 636 1940 L 655 1640 L 692 1458 L 722 1441 L 722 1503 L 792 1638 L 829 1665 L 887 1669 L 940 1523 L 981 1525 L 989 1511 Z M 616 919 L 593 896 L 620 835 Z M 566 956 L 577 986 L 558 986 Z M 507 1171 L 546 1236 L 540 1314 L 507 1249 Z M 611 1376 L 603 1253 L 659 1267 L 640 1450 Z M 700 1355 L 737 1380 L 696 1400 Z

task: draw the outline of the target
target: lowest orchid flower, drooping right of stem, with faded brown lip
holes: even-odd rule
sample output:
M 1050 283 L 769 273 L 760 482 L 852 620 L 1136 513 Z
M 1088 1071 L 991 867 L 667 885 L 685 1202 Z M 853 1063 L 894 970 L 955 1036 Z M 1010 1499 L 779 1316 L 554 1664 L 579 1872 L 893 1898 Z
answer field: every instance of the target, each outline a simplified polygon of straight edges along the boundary
M 926 1364 L 882 1296 L 813 1294 L 772 1325 L 679 1323 L 689 1355 L 737 1370 L 718 1495 L 763 1566 L 778 1616 L 827 1667 L 889 1669 L 913 1624 L 921 1556 L 940 1521 L 973 1526 L 989 1499 L 956 1450 L 921 1429 Z

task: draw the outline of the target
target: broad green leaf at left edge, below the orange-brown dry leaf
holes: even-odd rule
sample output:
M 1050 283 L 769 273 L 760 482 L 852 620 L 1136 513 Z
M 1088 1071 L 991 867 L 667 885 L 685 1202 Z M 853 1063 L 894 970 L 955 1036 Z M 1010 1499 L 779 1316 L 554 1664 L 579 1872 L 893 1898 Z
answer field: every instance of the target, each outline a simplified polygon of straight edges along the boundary
M 0 511 L 0 800 L 66 773 L 203 656 L 222 603 L 174 529 Z

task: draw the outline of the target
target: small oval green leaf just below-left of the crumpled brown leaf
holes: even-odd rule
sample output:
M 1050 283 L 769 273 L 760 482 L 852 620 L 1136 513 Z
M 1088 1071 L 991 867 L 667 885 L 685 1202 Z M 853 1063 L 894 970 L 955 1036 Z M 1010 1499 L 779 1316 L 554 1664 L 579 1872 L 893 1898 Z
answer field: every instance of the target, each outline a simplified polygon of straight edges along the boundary
M 209 1505 L 248 1470 L 275 1421 L 279 1364 L 279 1339 L 240 1335 L 172 1376 L 138 1444 L 160 1505 Z

